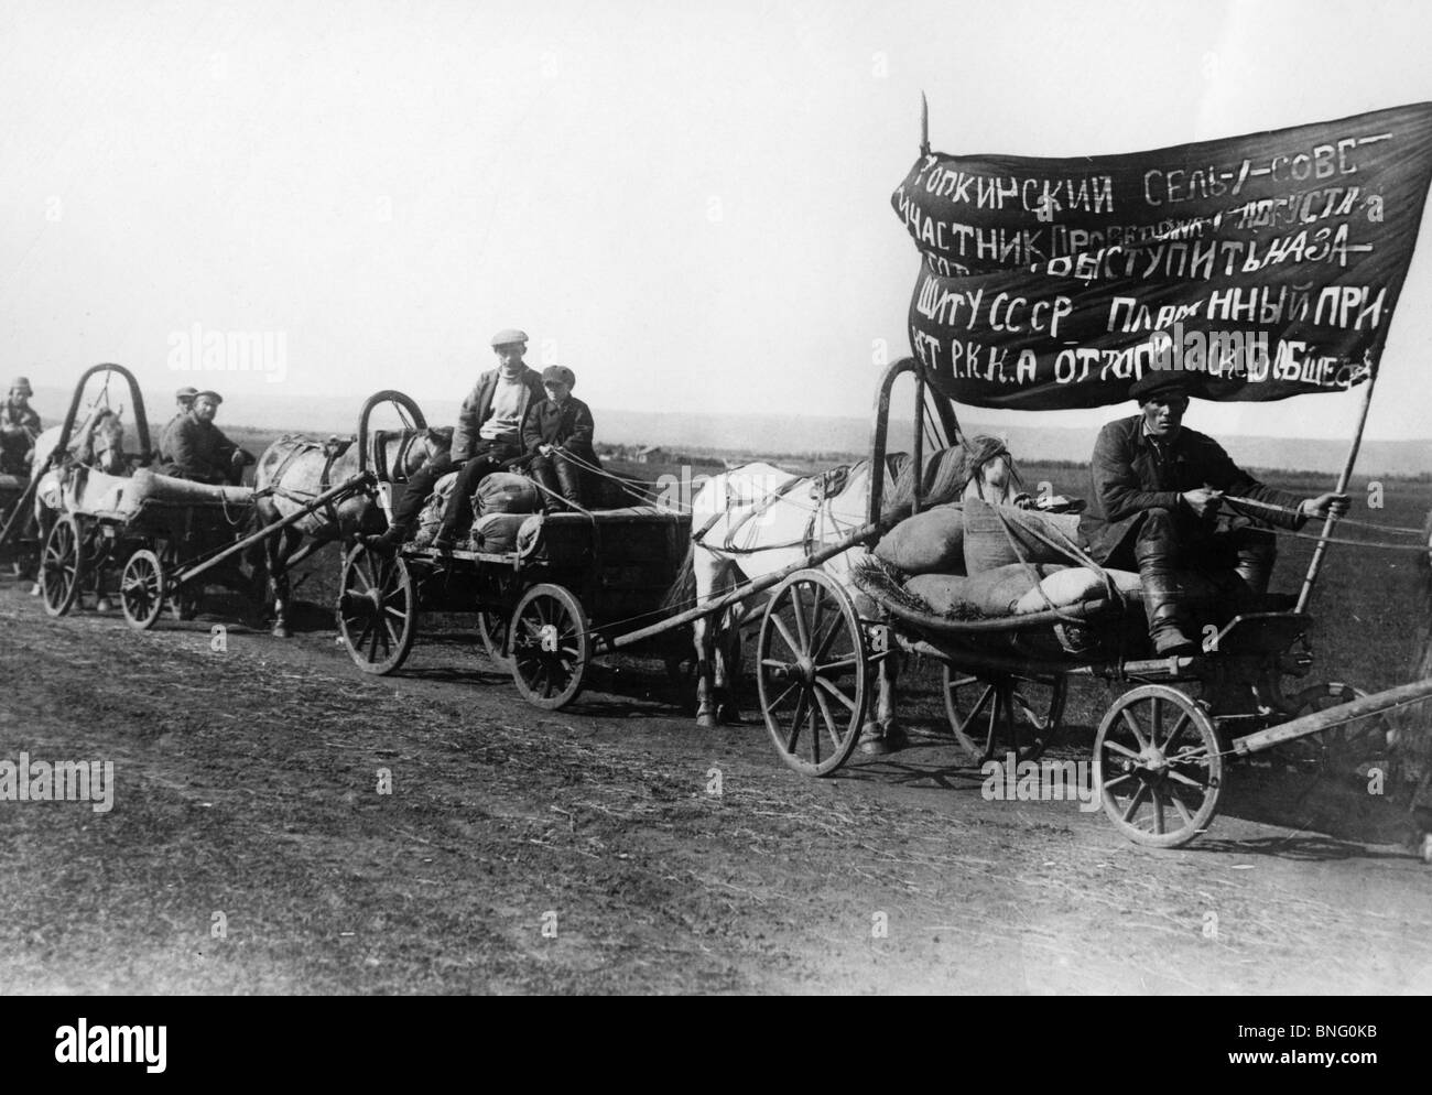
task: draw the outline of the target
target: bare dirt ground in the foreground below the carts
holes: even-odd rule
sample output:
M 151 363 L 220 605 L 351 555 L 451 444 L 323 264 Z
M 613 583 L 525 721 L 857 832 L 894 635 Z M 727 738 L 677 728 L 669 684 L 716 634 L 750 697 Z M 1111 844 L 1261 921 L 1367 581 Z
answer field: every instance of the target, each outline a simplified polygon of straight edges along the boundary
M 109 812 L 0 802 L 0 991 L 1432 992 L 1386 799 L 1234 767 L 1150 852 L 985 800 L 928 671 L 911 749 L 805 780 L 656 666 L 548 714 L 457 641 L 372 678 L 218 620 L 0 587 L 0 760 L 115 764 Z

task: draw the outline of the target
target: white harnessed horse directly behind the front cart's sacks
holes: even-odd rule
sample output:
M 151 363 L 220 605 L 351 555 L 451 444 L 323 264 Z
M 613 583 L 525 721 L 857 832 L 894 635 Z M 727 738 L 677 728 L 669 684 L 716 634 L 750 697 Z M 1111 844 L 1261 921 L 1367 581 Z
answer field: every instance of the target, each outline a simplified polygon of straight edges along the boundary
M 839 542 L 865 524 L 871 497 L 869 461 L 848 469 L 832 469 L 815 480 L 780 471 L 769 464 L 748 464 L 706 482 L 692 500 L 692 545 L 667 593 L 666 607 L 705 604 L 730 593 L 745 581 L 775 574 L 821 547 Z M 889 527 L 912 512 L 915 469 L 905 454 L 886 458 L 882 468 L 881 520 Z M 843 485 L 835 487 L 843 475 Z M 1020 498 L 1020 477 L 1010 449 L 991 437 L 967 438 L 959 445 L 941 449 L 925 464 L 921 500 L 938 505 L 957 498 L 984 498 L 1000 505 L 1014 505 Z M 816 487 L 821 498 L 812 500 Z M 825 570 L 855 597 L 851 565 L 868 554 L 853 547 L 826 561 Z M 739 721 L 733 683 L 739 667 L 739 605 L 717 618 L 699 617 L 693 624 L 696 647 L 696 723 L 713 727 L 720 721 Z M 866 751 L 879 751 L 879 743 L 894 740 L 895 660 L 881 660 L 879 694 L 875 717 L 868 720 L 862 739 Z

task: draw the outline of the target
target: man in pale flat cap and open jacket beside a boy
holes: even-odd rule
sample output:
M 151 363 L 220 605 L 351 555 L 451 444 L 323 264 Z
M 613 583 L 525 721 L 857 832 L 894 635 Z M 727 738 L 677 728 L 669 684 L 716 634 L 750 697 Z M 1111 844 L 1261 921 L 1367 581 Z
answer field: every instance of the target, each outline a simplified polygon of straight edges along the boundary
M 451 551 L 458 530 L 473 522 L 473 491 L 504 462 L 523 455 L 521 425 L 527 409 L 547 398 L 541 375 L 527 366 L 527 335 L 516 329 L 493 335 L 498 368 L 484 372 L 458 411 L 453 431 L 453 451 L 447 461 L 435 461 L 408 480 L 402 500 L 394 508 L 392 522 L 382 535 L 364 542 L 374 551 L 391 555 L 412 535 L 422 504 L 438 480 L 461 469 L 442 511 L 442 525 L 432 547 Z

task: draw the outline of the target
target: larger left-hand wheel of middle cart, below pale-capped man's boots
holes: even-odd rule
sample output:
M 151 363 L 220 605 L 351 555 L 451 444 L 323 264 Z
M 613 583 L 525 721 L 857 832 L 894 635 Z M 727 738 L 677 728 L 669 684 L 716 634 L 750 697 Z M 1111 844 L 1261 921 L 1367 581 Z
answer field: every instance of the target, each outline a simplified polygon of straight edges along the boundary
M 418 630 L 418 598 L 401 555 L 362 544 L 348 553 L 338 578 L 338 630 L 364 673 L 381 676 L 404 663 Z

